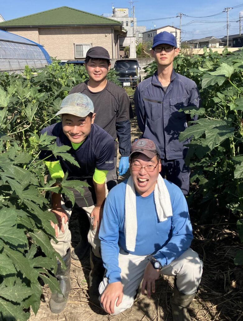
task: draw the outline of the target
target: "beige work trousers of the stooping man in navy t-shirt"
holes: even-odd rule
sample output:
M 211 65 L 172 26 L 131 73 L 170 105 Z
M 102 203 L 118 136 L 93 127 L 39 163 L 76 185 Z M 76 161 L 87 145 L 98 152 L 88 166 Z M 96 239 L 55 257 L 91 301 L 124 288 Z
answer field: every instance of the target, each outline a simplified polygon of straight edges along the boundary
M 105 184 L 105 196 L 107 196 L 107 195 L 108 195 L 108 190 L 107 190 L 107 187 Z M 72 213 L 72 209 L 67 208 L 64 204 L 62 204 L 62 207 L 67 212 L 67 216 L 68 216 L 68 220 L 69 220 L 70 215 Z M 93 211 L 94 207 L 95 207 L 95 205 L 91 205 L 88 207 L 82 207 L 88 215 L 89 222 L 90 222 L 90 214 Z M 64 224 L 64 218 L 62 219 L 62 224 L 64 227 L 64 233 L 62 233 L 62 231 L 60 230 L 60 228 L 58 226 L 58 237 L 56 238 L 58 243 L 56 243 L 53 239 L 51 239 L 51 245 L 61 256 L 65 256 L 65 254 L 67 253 L 67 250 L 70 247 L 71 232 L 68 229 L 68 221 L 66 224 Z M 88 233 L 88 242 L 91 245 L 95 256 L 101 257 L 101 255 L 100 255 L 100 239 L 99 239 L 99 236 L 97 233 L 97 225 L 95 227 L 95 230 L 93 230 L 93 225 L 90 224 L 90 229 L 89 229 L 89 233 Z

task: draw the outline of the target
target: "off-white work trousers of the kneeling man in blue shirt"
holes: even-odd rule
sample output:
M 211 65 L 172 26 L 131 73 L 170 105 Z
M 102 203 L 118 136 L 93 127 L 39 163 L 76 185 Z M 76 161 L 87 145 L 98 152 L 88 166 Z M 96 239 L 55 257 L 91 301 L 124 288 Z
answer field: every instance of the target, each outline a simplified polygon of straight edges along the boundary
M 137 256 L 120 249 L 118 260 L 119 267 L 122 270 L 123 298 L 118 307 L 116 307 L 116 304 L 114 306 L 115 315 L 132 306 L 136 291 L 143 279 L 145 268 L 152 256 L 152 254 Z M 178 290 L 185 294 L 194 294 L 201 281 L 203 262 L 199 259 L 198 254 L 189 248 L 171 264 L 164 266 L 160 273 L 176 276 Z M 107 278 L 105 277 L 99 286 L 100 294 L 103 293 L 107 284 Z

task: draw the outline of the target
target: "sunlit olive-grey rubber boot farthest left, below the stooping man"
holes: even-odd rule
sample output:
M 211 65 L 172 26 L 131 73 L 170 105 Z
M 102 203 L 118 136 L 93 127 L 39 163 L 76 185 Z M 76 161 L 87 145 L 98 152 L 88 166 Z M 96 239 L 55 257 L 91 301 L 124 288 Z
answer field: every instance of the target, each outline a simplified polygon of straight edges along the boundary
M 60 282 L 60 288 L 62 294 L 54 292 L 50 298 L 50 310 L 52 313 L 60 313 L 65 308 L 67 304 L 67 298 L 71 290 L 70 282 L 70 266 L 71 266 L 71 251 L 70 248 L 67 250 L 67 254 L 62 257 L 66 270 L 61 268 L 61 263 L 58 261 L 58 269 L 56 273 L 56 278 Z

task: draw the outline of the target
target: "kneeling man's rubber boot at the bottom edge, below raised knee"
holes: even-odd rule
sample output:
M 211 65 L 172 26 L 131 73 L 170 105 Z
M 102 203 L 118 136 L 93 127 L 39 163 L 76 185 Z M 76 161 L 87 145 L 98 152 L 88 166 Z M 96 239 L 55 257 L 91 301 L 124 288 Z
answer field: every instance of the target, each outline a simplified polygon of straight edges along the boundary
M 173 291 L 173 298 L 170 301 L 172 307 L 173 321 L 190 321 L 190 315 L 187 308 L 194 299 L 194 294 L 184 294 L 177 289 L 176 282 Z

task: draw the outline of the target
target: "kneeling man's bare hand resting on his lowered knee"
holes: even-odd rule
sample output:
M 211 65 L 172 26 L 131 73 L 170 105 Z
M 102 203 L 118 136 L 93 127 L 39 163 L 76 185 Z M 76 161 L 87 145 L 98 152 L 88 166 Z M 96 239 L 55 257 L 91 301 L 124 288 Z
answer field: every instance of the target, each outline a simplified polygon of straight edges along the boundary
M 103 305 L 105 312 L 109 314 L 113 314 L 116 299 L 118 298 L 116 302 L 116 306 L 118 307 L 119 304 L 122 302 L 122 297 L 123 297 L 122 282 L 114 282 L 114 283 L 108 284 L 101 296 L 101 303 Z

